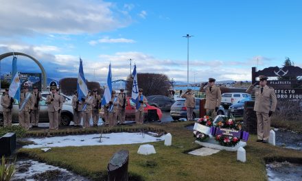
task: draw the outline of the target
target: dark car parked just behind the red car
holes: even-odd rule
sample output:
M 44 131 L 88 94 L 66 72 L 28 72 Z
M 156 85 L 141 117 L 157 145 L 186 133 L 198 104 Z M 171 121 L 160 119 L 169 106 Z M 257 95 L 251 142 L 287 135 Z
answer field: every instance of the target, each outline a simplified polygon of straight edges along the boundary
M 175 102 L 173 99 L 164 95 L 150 95 L 146 98 L 150 106 L 160 108 L 162 111 L 170 111 L 172 104 Z

